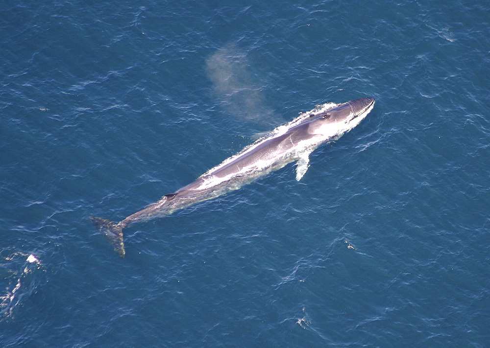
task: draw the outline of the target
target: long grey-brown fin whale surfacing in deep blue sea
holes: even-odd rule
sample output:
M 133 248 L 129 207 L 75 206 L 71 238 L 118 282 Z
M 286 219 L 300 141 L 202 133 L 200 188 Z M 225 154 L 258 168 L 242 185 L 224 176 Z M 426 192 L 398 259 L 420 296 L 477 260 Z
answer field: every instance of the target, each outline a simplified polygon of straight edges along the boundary
M 114 250 L 125 255 L 123 229 L 135 222 L 166 216 L 190 205 L 240 188 L 286 164 L 296 161 L 296 180 L 309 166 L 309 155 L 320 144 L 337 140 L 357 126 L 372 110 L 375 100 L 361 98 L 342 104 L 324 104 L 273 130 L 267 137 L 211 168 L 197 180 L 120 222 L 100 217 L 89 219 L 103 232 Z

